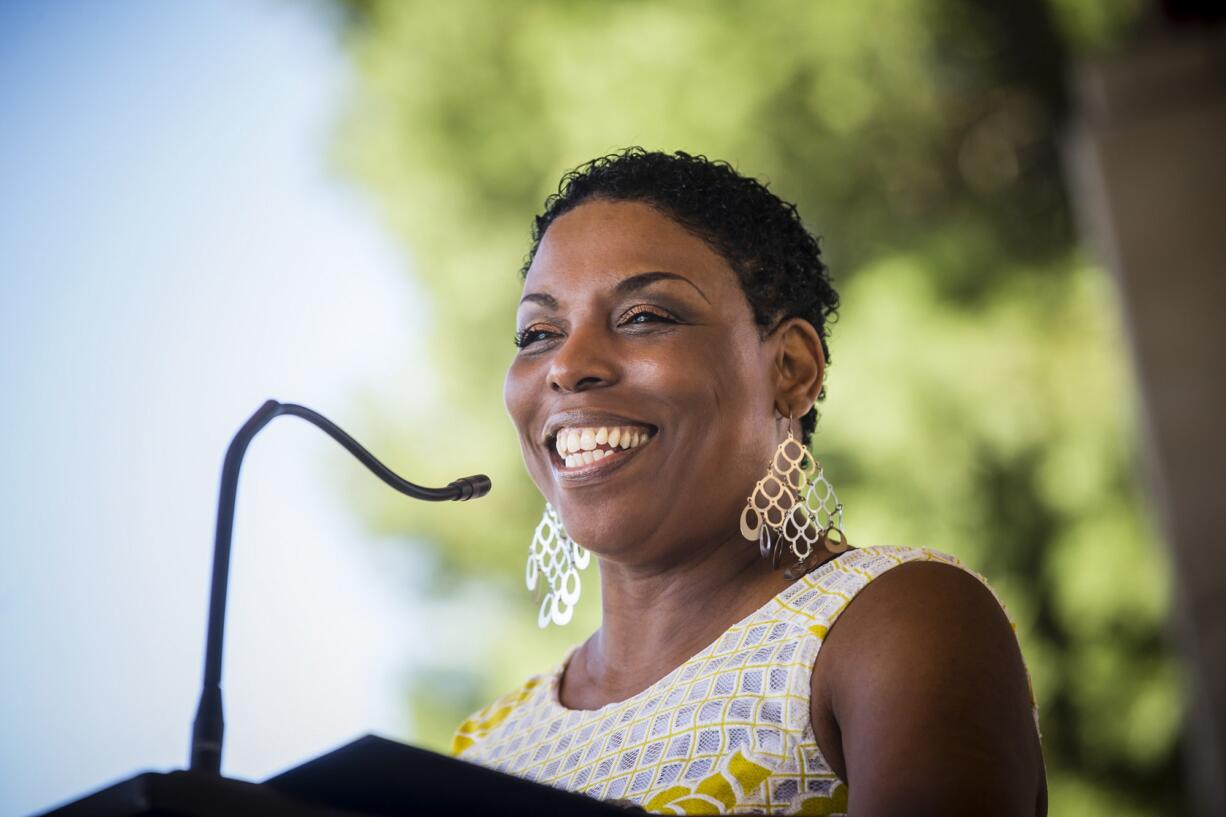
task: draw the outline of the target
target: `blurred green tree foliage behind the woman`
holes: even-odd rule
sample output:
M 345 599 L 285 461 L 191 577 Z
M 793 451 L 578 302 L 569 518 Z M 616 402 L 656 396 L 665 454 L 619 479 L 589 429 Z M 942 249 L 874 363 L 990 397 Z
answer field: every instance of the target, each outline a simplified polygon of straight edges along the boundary
M 430 568 L 414 731 L 451 729 L 597 624 L 522 589 L 542 501 L 501 404 L 516 270 L 564 169 L 639 144 L 701 152 L 797 202 L 843 301 L 814 439 L 858 543 L 984 573 L 1019 626 L 1052 813 L 1159 815 L 1182 780 L 1168 577 L 1138 489 L 1110 281 L 1074 242 L 1057 142 L 1069 53 L 1137 2 L 342 2 L 359 85 L 337 142 L 430 299 L 435 380 L 376 450 L 479 505 L 354 497 Z M 409 539 L 412 536 L 412 539 Z

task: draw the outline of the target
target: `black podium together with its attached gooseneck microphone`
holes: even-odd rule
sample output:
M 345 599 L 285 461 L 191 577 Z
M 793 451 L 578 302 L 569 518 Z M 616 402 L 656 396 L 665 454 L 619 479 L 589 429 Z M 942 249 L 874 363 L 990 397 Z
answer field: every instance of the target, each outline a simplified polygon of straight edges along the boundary
M 396 476 L 326 417 L 294 404 L 268 400 L 243 424 L 226 451 L 217 539 L 208 599 L 205 685 L 191 731 L 188 770 L 143 772 L 65 804 L 43 817 L 413 817 L 416 815 L 626 813 L 611 804 L 514 778 L 374 735 L 365 735 L 262 783 L 223 778 L 222 635 L 226 584 L 238 472 L 251 438 L 278 415 L 293 415 L 324 429 L 375 476 L 401 493 L 429 502 L 463 501 L 489 493 L 489 477 L 423 488 Z

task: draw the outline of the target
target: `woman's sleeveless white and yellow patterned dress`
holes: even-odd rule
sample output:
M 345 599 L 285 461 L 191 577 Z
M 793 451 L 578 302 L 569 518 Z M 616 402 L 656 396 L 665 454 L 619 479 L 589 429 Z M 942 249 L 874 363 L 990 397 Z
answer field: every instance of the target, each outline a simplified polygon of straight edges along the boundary
M 847 786 L 809 720 L 813 662 L 858 591 L 917 561 L 967 569 L 927 548 L 847 551 L 626 700 L 566 709 L 563 661 L 465 721 L 452 754 L 656 813 L 843 815 Z

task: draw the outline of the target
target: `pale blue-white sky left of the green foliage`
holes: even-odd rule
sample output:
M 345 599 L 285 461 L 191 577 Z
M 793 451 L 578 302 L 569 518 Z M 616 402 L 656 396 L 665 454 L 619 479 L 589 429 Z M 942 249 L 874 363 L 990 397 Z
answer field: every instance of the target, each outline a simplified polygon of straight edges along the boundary
M 351 77 L 322 10 L 0 2 L 0 813 L 185 764 L 246 417 L 302 402 L 360 440 L 359 397 L 425 377 L 407 254 L 329 167 Z M 345 456 L 297 418 L 248 454 L 227 774 L 408 732 L 413 567 Z

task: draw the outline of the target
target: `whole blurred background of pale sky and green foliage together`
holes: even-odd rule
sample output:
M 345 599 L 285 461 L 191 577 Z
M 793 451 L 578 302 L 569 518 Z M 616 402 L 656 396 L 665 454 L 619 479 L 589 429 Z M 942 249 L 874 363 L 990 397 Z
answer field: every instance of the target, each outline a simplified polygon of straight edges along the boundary
M 0 7 L 0 811 L 181 763 L 212 481 L 266 396 L 495 489 L 408 503 L 297 421 L 264 433 L 227 772 L 364 731 L 445 748 L 597 626 L 590 579 L 536 628 L 501 377 L 531 216 L 626 145 L 727 159 L 823 237 L 814 450 L 855 542 L 1004 597 L 1052 813 L 1187 811 L 1170 559 L 1059 150 L 1073 64 L 1125 49 L 1140 0 Z

